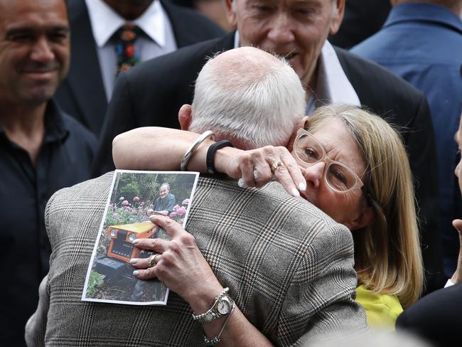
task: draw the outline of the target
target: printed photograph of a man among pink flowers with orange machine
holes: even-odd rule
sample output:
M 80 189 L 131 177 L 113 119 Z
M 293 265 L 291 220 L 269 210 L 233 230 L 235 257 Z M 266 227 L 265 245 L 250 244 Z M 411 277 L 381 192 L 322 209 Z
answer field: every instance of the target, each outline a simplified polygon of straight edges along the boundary
M 166 304 L 168 288 L 158 279 L 134 277 L 130 260 L 154 252 L 139 250 L 132 242 L 138 238 L 168 240 L 165 230 L 149 220 L 154 213 L 167 215 L 184 227 L 198 176 L 195 172 L 115 171 L 82 301 Z

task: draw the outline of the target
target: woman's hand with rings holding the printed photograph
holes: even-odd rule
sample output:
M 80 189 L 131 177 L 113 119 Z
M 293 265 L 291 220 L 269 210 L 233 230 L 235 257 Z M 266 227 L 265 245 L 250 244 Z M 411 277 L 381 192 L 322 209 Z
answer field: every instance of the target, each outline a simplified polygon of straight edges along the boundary
M 168 217 L 151 215 L 149 219 L 163 228 L 171 240 L 134 240 L 136 247 L 160 254 L 156 255 L 157 264 L 152 267 L 148 267 L 149 257 L 132 259 L 131 265 L 137 268 L 134 275 L 139 279 L 157 277 L 166 287 L 185 299 L 194 311 L 207 311 L 210 301 L 213 302 L 223 287 L 200 252 L 195 238 Z

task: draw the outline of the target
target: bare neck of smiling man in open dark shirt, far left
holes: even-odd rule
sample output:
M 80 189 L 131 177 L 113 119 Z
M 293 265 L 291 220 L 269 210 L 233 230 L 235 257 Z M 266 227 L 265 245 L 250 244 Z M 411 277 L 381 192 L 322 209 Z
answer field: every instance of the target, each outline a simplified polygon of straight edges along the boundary
M 2 105 L 0 125 L 6 137 L 31 157 L 36 166 L 38 152 L 45 137 L 46 102 L 40 105 Z

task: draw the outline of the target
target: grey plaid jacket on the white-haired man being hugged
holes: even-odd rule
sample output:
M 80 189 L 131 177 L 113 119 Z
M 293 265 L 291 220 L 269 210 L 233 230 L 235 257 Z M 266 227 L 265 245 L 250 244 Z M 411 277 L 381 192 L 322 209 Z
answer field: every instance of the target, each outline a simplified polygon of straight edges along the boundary
M 50 198 L 53 247 L 28 346 L 203 346 L 186 301 L 166 306 L 80 301 L 112 173 Z M 278 346 L 303 344 L 338 328 L 366 326 L 354 301 L 350 231 L 279 183 L 239 188 L 200 178 L 186 229 L 247 319 Z

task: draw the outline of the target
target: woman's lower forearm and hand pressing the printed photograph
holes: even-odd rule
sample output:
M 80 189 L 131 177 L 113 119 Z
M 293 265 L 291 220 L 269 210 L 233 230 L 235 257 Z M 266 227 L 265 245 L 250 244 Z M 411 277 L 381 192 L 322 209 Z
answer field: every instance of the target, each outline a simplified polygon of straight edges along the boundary
M 171 240 L 137 239 L 136 247 L 154 250 L 161 254 L 156 265 L 148 267 L 148 258 L 133 259 L 131 264 L 138 268 L 134 274 L 139 279 L 157 277 L 166 287 L 182 297 L 195 314 L 208 311 L 223 287 L 204 259 L 193 235 L 181 225 L 160 215 L 151 216 L 151 222 L 159 225 L 170 235 Z M 232 298 L 232 292 L 230 297 Z M 212 338 L 222 329 L 226 317 L 203 324 L 203 329 Z M 217 346 L 272 346 L 236 306 L 228 319 Z

